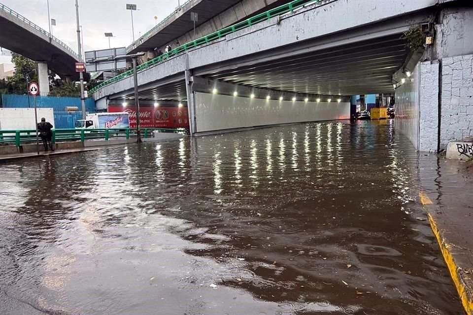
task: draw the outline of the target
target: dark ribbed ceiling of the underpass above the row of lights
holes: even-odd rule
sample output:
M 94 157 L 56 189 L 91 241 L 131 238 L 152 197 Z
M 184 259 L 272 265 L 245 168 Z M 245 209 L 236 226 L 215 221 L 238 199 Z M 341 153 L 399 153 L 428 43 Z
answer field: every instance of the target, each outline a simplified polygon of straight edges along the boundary
M 205 78 L 271 90 L 328 95 L 393 93 L 408 54 L 400 35 L 214 71 Z

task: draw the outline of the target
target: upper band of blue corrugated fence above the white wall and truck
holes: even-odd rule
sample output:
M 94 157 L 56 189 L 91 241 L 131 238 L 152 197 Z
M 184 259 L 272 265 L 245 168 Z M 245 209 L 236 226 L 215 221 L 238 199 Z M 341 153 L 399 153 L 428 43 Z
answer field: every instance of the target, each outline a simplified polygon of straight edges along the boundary
M 30 100 L 28 101 L 28 98 Z M 1 101 L 5 108 L 27 108 L 34 107 L 33 96 L 3 94 Z M 76 106 L 81 110 L 80 97 L 61 97 L 61 96 L 36 96 L 36 104 L 41 108 L 52 108 L 55 112 L 62 112 L 67 106 Z M 85 99 L 85 110 L 89 113 L 95 113 L 95 99 Z

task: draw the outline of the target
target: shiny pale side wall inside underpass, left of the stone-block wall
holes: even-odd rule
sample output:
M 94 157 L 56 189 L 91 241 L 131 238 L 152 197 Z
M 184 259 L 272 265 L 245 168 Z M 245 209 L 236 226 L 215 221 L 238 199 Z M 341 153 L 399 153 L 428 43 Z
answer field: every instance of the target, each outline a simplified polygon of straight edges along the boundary
M 419 148 L 419 65 L 405 83 L 396 89 L 395 126 Z

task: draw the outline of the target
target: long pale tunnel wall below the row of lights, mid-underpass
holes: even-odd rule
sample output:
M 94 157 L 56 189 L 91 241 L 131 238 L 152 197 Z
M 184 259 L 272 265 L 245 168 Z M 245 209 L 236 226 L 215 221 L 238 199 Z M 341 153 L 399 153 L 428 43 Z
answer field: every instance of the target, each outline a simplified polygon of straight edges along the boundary
M 197 132 L 350 118 L 349 102 L 267 100 L 195 94 Z

